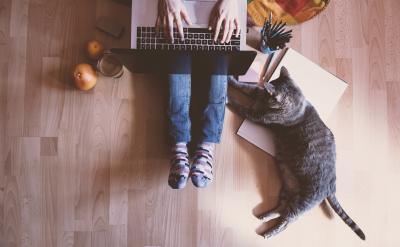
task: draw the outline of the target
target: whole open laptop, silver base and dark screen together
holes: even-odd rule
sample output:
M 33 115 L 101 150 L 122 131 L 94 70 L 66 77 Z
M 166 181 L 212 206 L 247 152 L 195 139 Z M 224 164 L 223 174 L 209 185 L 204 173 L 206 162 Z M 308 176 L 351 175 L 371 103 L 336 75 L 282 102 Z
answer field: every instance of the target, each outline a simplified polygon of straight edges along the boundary
M 111 49 L 133 73 L 243 75 L 256 52 L 246 50 L 246 0 L 239 4 L 241 34 L 229 43 L 214 42 L 209 15 L 217 0 L 182 0 L 192 20 L 184 26 L 182 42 L 174 29 L 174 43 L 156 32 L 158 0 L 132 0 L 132 49 Z M 185 25 L 185 23 L 183 24 Z M 220 39 L 219 39 L 220 40 Z

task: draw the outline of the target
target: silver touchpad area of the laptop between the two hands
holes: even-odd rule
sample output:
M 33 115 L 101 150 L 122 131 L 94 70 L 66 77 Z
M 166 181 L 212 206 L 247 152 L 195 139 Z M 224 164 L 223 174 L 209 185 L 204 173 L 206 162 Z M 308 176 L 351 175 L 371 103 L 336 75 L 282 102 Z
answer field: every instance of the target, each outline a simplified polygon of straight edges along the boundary
M 217 0 L 185 0 L 189 17 L 195 26 L 207 27 L 211 10 Z

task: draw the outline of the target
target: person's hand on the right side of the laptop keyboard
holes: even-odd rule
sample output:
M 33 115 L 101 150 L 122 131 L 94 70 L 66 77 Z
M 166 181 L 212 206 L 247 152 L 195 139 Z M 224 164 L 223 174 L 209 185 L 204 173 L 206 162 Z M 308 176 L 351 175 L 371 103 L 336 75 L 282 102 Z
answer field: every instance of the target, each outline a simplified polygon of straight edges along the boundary
M 214 41 L 217 41 L 221 27 L 223 27 L 221 43 L 228 43 L 235 29 L 235 36 L 239 37 L 240 24 L 237 0 L 219 0 L 215 5 L 210 16 L 209 27 L 209 29 L 215 28 Z

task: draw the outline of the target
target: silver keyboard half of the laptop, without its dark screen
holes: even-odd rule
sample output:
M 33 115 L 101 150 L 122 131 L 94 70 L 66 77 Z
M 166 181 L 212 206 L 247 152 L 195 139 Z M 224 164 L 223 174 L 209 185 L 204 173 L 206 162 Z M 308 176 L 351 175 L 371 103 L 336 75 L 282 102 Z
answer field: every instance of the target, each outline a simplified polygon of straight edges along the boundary
M 165 39 L 163 30 L 156 33 L 155 23 L 158 0 L 132 0 L 131 48 L 139 50 L 178 50 L 178 51 L 238 51 L 246 47 L 247 1 L 238 1 L 241 33 L 234 35 L 227 44 L 214 42 L 214 30 L 208 30 L 210 13 L 217 0 L 182 0 L 192 20 L 190 27 L 182 20 L 185 40 L 178 38 L 174 27 L 174 44 Z M 221 32 L 222 33 L 222 32 Z M 221 35 L 220 33 L 220 35 Z

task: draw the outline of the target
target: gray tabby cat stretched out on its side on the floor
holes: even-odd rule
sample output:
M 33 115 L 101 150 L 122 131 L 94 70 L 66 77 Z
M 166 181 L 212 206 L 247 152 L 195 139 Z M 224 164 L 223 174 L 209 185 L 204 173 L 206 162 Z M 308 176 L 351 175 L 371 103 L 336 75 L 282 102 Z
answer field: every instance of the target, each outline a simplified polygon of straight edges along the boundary
M 327 200 L 332 209 L 363 240 L 359 226 L 345 213 L 336 199 L 335 140 L 332 132 L 320 119 L 285 67 L 278 79 L 265 87 L 238 82 L 230 85 L 255 99 L 245 107 L 233 99 L 228 105 L 241 116 L 272 129 L 276 136 L 276 163 L 282 178 L 278 205 L 262 214 L 265 222 L 278 219 L 276 226 L 263 236 L 268 238 L 283 231 L 305 211 Z

